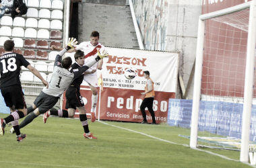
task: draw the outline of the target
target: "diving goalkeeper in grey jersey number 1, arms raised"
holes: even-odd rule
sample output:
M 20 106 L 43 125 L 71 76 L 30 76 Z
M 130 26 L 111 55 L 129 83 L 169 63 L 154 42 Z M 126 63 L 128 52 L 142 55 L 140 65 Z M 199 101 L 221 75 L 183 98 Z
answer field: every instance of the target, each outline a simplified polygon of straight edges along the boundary
M 69 68 L 71 68 L 72 60 L 69 56 L 62 60 L 62 56 L 65 54 L 65 52 L 67 52 L 67 50 L 74 48 L 73 46 L 75 44 L 77 44 L 77 41 L 71 38 L 69 44 L 67 44 L 67 46 L 65 46 L 65 48 L 63 48 L 63 50 L 57 54 L 53 68 L 53 76 L 49 82 L 49 88 L 47 89 L 44 87 L 38 97 L 36 97 L 32 107 L 28 108 L 28 114 L 30 112 L 32 113 L 20 124 L 20 128 L 28 125 L 40 114 L 44 114 L 53 108 L 61 97 L 62 93 L 69 87 L 69 85 L 71 85 L 71 82 L 77 77 L 81 76 L 86 70 L 105 56 L 101 56 L 99 53 L 94 60 L 88 62 L 88 64 L 85 66 L 79 67 L 78 69 L 73 69 L 73 71 L 70 72 Z M 107 52 L 104 51 L 104 53 Z M 10 131 L 13 133 L 13 128 L 11 128 Z

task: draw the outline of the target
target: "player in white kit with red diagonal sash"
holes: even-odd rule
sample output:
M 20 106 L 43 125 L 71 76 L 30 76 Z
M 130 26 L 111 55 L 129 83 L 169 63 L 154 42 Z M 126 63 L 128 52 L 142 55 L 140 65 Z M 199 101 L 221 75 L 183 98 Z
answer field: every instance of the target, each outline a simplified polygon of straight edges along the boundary
M 97 31 L 93 31 L 92 34 L 90 35 L 90 41 L 88 42 L 82 42 L 80 43 L 76 48 L 73 48 L 69 50 L 68 52 L 75 52 L 75 50 L 82 50 L 84 52 L 84 63 L 87 64 L 91 60 L 94 60 L 97 57 L 97 50 L 100 50 L 102 52 L 105 47 L 100 44 L 98 41 L 100 40 L 100 34 Z M 63 48 L 58 48 L 57 46 L 52 46 L 52 49 L 56 50 L 62 50 Z M 97 69 L 102 69 L 103 61 L 100 60 L 97 64 L 94 66 L 90 67 L 88 69 L 89 72 L 92 72 Z M 88 73 L 84 75 L 84 81 L 88 83 L 90 86 L 90 89 L 92 90 L 92 108 L 91 108 L 91 121 L 95 122 L 96 120 L 96 115 L 95 115 L 95 110 L 96 110 L 96 104 L 98 102 L 98 78 L 96 73 Z

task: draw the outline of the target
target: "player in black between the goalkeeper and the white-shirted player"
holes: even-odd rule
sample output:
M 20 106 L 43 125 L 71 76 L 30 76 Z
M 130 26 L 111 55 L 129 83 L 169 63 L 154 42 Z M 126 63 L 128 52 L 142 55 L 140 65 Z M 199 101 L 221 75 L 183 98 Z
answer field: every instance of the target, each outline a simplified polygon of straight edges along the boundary
M 84 52 L 82 52 L 82 50 L 77 50 L 75 52 L 75 61 L 76 62 L 73 63 L 71 71 L 73 71 L 73 69 L 78 69 L 79 67 L 82 67 L 84 65 Z M 95 73 L 95 71 L 96 70 L 93 70 L 91 72 L 86 71 L 84 73 L 85 74 Z M 49 118 L 49 116 L 51 115 L 59 116 L 61 118 L 73 118 L 73 116 L 75 115 L 75 110 L 77 109 L 79 111 L 79 118 L 80 118 L 81 124 L 84 128 L 84 137 L 96 139 L 96 137 L 90 133 L 87 116 L 86 116 L 86 108 L 84 107 L 84 101 L 79 92 L 80 85 L 82 84 L 83 79 L 84 79 L 84 74 L 80 75 L 75 80 L 73 80 L 73 82 L 67 89 L 66 91 L 67 103 L 65 106 L 67 110 L 50 110 L 44 113 L 44 117 L 42 118 L 42 120 L 44 121 L 44 123 L 46 123 L 47 118 Z

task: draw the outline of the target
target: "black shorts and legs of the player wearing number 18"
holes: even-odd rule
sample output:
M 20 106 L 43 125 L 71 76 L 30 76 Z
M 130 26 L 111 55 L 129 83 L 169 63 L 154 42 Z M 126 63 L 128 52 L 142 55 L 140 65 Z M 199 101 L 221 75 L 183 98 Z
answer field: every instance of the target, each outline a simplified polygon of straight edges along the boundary
M 3 98 L 5 99 L 5 104 L 7 107 L 9 107 L 13 113 L 11 115 L 7 116 L 7 118 L 1 118 L 0 119 L 0 135 L 3 135 L 5 133 L 5 125 L 9 122 L 17 121 L 20 118 L 24 118 L 27 114 L 26 110 L 26 102 L 24 93 L 22 92 L 22 87 L 20 85 L 13 85 L 9 87 L 1 88 L 1 93 L 3 95 Z M 13 110 L 13 106 L 17 108 L 18 110 Z M 17 129 L 17 133 L 20 136 L 20 129 L 18 126 L 18 121 L 14 124 L 15 129 Z

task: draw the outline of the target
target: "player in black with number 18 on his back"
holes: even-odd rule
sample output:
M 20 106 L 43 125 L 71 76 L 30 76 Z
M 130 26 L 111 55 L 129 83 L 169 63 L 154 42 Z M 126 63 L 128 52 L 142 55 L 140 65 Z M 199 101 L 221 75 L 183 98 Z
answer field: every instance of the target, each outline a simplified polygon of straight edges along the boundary
M 3 46 L 5 48 L 5 54 L 0 56 L 0 88 L 3 98 L 5 99 L 5 104 L 11 110 L 11 115 L 7 116 L 7 118 L 1 118 L 0 134 L 2 136 L 5 134 L 5 125 L 11 122 L 16 133 L 17 141 L 22 142 L 22 140 L 26 138 L 26 134 L 20 133 L 18 120 L 27 115 L 27 107 L 20 83 L 20 67 L 23 65 L 29 69 L 46 87 L 48 87 L 48 82 L 42 78 L 40 73 L 30 65 L 22 54 L 13 52 L 13 40 L 6 40 Z

